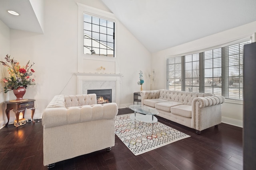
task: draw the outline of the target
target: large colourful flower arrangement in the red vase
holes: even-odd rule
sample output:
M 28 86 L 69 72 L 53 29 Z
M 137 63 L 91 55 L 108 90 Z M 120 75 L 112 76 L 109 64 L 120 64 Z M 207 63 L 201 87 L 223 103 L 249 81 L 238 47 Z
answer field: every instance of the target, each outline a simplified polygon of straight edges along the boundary
M 4 78 L 3 82 L 5 83 L 4 93 L 8 91 L 17 89 L 19 86 L 24 86 L 27 88 L 28 85 L 34 85 L 35 80 L 31 78 L 32 74 L 35 72 L 31 67 L 35 64 L 29 66 L 30 61 L 26 66 L 21 67 L 20 63 L 14 58 L 10 59 L 10 55 L 6 55 L 4 58 L 6 61 L 0 61 L 4 66 L 8 67 L 8 73 L 10 77 Z

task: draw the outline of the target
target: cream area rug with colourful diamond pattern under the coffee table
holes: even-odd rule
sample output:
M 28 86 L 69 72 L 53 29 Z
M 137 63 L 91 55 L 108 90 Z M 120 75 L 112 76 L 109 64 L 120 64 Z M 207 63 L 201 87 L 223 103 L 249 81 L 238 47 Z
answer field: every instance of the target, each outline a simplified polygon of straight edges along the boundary
M 190 137 L 160 122 L 154 123 L 153 134 L 152 123 L 136 121 L 134 127 L 135 123 L 130 119 L 131 114 L 134 113 L 116 116 L 115 133 L 136 156 Z

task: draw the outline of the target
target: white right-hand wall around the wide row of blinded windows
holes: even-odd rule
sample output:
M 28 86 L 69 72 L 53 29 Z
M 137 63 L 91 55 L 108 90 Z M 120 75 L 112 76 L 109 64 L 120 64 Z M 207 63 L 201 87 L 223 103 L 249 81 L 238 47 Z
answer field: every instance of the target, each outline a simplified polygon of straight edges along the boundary
M 156 71 L 156 81 L 154 89 L 166 89 L 166 58 L 183 55 L 186 53 L 199 51 L 202 49 L 221 45 L 237 39 L 248 37 L 256 32 L 256 21 L 204 37 L 189 43 L 178 45 L 163 51 L 152 54 L 152 68 Z M 222 105 L 222 122 L 242 127 L 243 105 L 242 102 Z

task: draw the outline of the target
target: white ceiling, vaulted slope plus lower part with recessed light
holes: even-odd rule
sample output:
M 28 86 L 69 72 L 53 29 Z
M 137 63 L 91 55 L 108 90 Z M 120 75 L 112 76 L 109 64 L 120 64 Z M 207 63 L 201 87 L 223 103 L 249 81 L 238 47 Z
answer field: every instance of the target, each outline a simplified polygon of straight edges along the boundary
M 256 0 L 101 1 L 152 53 L 256 21 Z M 12 29 L 43 33 L 34 8 L 43 2 L 0 0 L 0 20 Z M 9 9 L 22 15 L 17 19 Z

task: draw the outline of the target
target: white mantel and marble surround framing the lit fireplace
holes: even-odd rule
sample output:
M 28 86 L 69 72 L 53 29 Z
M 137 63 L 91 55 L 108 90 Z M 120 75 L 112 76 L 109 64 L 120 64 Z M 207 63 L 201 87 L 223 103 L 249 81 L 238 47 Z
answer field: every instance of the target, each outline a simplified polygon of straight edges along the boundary
M 112 102 L 120 107 L 120 84 L 122 74 L 76 73 L 77 94 L 87 94 L 87 90 L 112 89 Z

